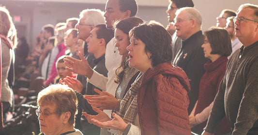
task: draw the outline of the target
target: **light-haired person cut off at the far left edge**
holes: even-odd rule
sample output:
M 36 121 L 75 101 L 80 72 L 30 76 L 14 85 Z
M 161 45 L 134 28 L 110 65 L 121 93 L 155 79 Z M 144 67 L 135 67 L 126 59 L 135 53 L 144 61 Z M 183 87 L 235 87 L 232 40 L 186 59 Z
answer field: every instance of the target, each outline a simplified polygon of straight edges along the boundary
M 5 122 L 7 113 L 12 112 L 14 107 L 12 84 L 15 75 L 14 49 L 17 44 L 16 29 L 9 11 L 5 7 L 0 7 L 0 38 L 2 49 L 1 104 L 3 121 Z

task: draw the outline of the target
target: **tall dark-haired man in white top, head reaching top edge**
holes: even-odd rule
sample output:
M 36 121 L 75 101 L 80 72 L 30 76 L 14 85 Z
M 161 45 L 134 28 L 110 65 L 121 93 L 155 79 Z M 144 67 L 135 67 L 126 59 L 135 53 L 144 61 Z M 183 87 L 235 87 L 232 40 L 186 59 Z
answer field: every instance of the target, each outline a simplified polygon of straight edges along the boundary
M 136 15 L 137 2 L 136 0 L 107 0 L 105 10 L 106 27 L 113 28 L 115 21 Z M 105 63 L 108 70 L 107 78 L 90 68 L 86 69 L 88 81 L 112 95 L 115 95 L 118 86 L 118 83 L 114 81 L 115 69 L 121 63 L 121 55 L 119 55 L 117 48 L 114 46 L 115 42 L 115 38 L 113 37 L 106 45 Z M 108 116 L 111 116 L 111 110 L 104 110 L 104 112 Z

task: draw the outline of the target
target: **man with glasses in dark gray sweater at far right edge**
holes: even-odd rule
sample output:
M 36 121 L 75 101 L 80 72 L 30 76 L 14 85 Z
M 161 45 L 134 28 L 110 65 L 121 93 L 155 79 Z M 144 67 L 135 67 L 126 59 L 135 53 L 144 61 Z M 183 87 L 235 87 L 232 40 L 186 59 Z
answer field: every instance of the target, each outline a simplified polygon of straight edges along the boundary
M 258 5 L 241 5 L 234 23 L 243 46 L 228 60 L 202 135 L 214 135 L 225 116 L 232 128 L 230 135 L 258 135 Z

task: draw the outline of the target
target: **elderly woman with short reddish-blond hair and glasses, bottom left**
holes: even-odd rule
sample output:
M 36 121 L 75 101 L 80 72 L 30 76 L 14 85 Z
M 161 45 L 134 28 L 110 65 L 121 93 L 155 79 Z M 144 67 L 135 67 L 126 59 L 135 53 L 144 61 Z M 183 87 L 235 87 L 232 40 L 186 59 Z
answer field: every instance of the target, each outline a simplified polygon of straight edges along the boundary
M 38 94 L 40 132 L 45 135 L 82 135 L 74 129 L 77 97 L 67 85 L 54 84 Z

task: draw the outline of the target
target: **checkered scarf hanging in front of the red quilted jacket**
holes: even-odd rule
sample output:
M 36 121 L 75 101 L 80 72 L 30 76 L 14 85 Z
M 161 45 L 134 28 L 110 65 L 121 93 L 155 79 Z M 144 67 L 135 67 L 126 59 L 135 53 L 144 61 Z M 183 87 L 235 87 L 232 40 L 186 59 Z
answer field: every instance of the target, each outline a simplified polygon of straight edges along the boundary
M 121 101 L 120 110 L 117 113 L 123 121 L 126 123 L 135 123 L 137 115 L 137 93 L 140 87 L 143 74 L 140 73 L 132 84 L 129 91 L 125 94 L 124 98 Z

